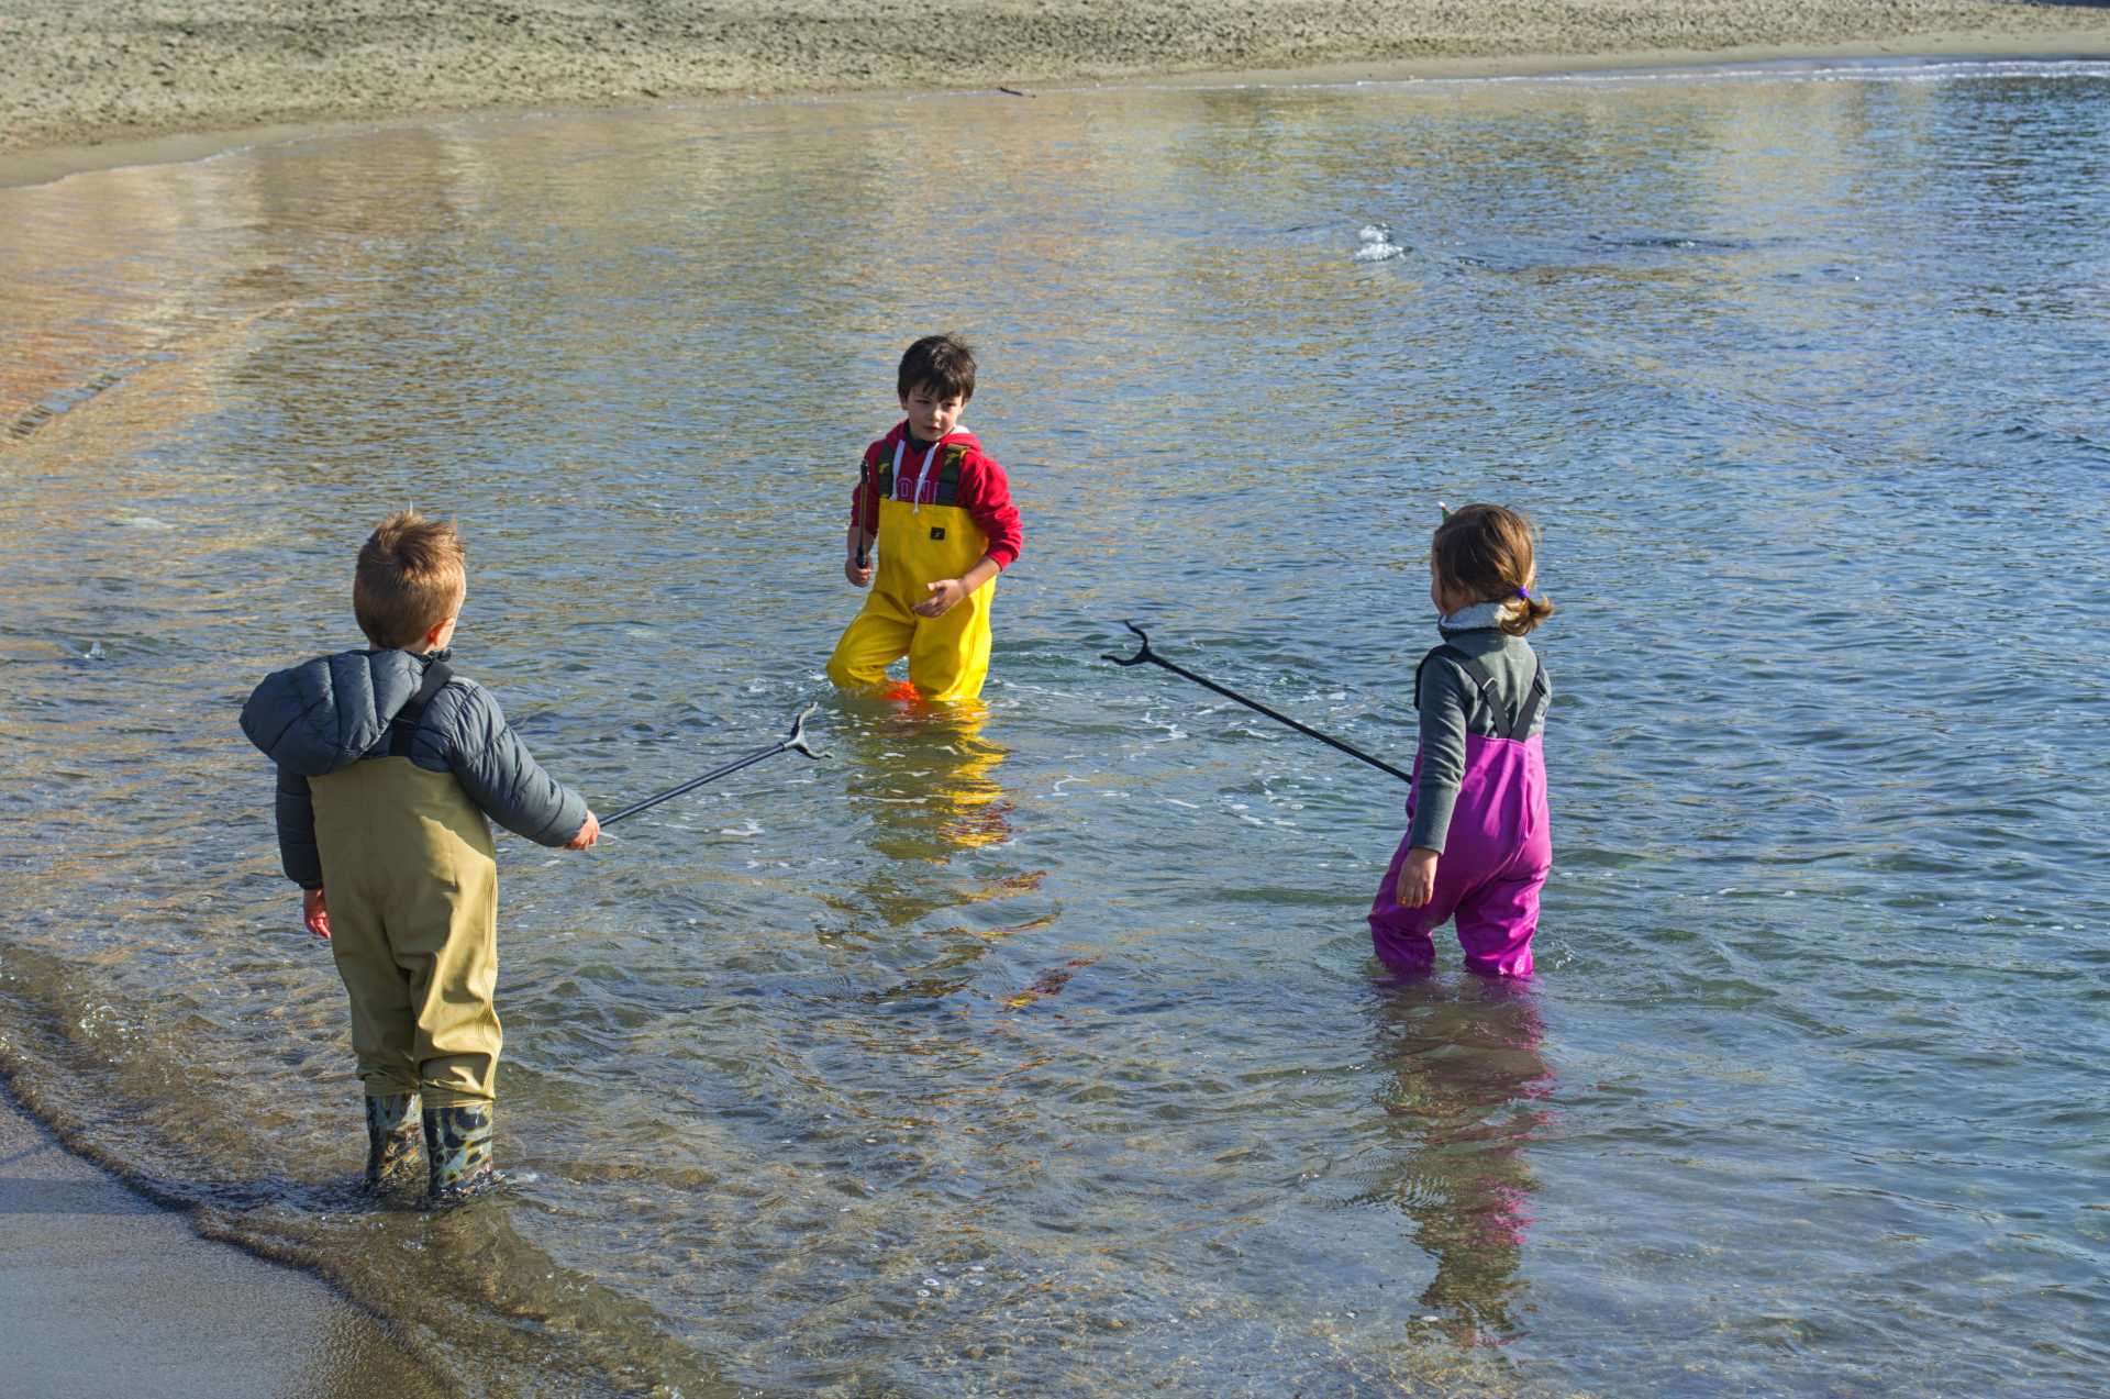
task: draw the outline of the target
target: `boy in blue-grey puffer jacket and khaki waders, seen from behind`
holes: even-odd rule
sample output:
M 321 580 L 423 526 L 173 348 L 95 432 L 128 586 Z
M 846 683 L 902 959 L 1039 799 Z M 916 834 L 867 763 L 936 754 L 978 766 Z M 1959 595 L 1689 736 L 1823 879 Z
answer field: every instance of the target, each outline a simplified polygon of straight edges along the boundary
M 485 817 L 568 850 L 601 833 L 498 701 L 449 667 L 466 593 L 454 525 L 390 515 L 352 576 L 373 650 L 276 671 L 243 705 L 243 732 L 279 764 L 279 857 L 352 1000 L 367 1186 L 411 1171 L 422 1116 L 435 1199 L 496 1177 L 498 863 Z

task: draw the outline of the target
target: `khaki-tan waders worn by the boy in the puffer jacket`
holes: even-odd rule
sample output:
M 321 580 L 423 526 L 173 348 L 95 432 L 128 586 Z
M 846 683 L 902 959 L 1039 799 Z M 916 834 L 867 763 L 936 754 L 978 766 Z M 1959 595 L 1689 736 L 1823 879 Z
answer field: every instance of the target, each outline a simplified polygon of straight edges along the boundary
M 369 1097 L 487 1104 L 498 1074 L 498 859 L 452 772 L 409 760 L 416 715 L 376 753 L 308 779 L 329 950 Z

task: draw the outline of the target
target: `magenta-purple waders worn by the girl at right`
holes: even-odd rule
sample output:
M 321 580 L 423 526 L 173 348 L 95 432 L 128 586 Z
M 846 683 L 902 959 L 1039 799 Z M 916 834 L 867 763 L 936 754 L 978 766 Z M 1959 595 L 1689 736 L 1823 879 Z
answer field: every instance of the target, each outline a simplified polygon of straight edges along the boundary
M 1445 920 L 1458 920 L 1458 945 L 1464 947 L 1466 971 L 1494 977 L 1532 975 L 1532 933 L 1538 931 L 1538 890 L 1553 867 L 1553 836 L 1547 827 L 1547 760 L 1532 724 L 1547 703 L 1545 667 L 1534 673 L 1532 690 L 1515 713 L 1500 703 L 1494 677 L 1479 660 L 1452 646 L 1439 646 L 1433 656 L 1447 656 L 1464 667 L 1494 709 L 1502 736 L 1469 732 L 1464 736 L 1464 774 L 1458 781 L 1458 806 L 1437 857 L 1435 897 L 1422 907 L 1401 907 L 1399 867 L 1414 840 L 1414 800 L 1422 789 L 1422 755 L 1414 753 L 1414 785 L 1407 787 L 1407 833 L 1393 852 L 1384 884 L 1369 905 L 1369 941 L 1386 966 L 1407 975 L 1435 966 L 1437 950 L 1428 935 Z M 1414 671 L 1416 707 L 1420 705 L 1420 667 Z M 1532 734 L 1532 736 L 1519 736 Z

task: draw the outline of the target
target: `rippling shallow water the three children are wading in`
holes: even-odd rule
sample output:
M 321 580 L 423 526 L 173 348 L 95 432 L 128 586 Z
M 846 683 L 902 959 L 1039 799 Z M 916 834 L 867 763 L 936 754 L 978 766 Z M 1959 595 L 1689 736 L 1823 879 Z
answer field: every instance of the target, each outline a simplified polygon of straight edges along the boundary
M 2110 68 L 405 124 L 0 190 L 0 1057 L 471 1391 L 2030 1393 L 2110 1363 Z M 509 1199 L 363 1209 L 234 715 L 454 513 L 603 810 L 770 743 L 899 348 L 985 707 L 502 844 Z M 1388 983 L 1437 498 L 1545 525 L 1540 977 Z

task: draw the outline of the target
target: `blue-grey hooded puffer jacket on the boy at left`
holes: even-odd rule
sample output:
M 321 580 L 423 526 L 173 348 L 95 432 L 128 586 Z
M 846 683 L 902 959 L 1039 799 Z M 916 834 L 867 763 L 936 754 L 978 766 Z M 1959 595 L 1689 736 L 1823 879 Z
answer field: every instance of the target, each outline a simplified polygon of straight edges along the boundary
M 302 888 L 323 886 L 308 779 L 365 758 L 443 654 L 348 650 L 274 671 L 243 705 L 243 732 L 279 764 L 279 861 Z M 561 846 L 587 823 L 587 800 L 561 785 L 506 726 L 490 690 L 456 675 L 426 703 L 409 760 L 454 772 L 483 815 L 517 836 Z

